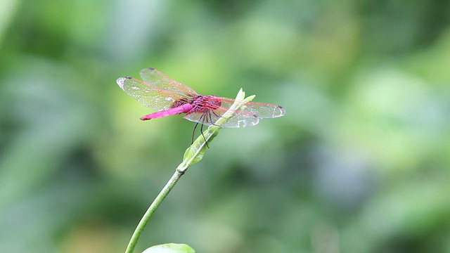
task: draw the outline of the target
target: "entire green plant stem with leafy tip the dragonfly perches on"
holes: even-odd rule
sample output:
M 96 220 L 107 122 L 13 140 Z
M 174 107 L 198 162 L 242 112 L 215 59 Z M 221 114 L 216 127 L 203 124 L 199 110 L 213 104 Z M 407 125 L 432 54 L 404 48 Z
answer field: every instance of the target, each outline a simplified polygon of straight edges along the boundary
M 240 89 L 240 91 L 238 92 L 238 96 L 236 96 L 235 103 L 231 105 L 229 110 L 226 111 L 224 115 L 222 115 L 222 117 L 220 117 L 217 122 L 214 123 L 214 125 L 209 126 L 204 134 L 198 136 L 198 138 L 186 150 L 186 152 L 184 153 L 183 162 L 181 162 L 181 164 L 176 167 L 175 173 L 169 179 L 164 188 L 162 188 L 160 194 L 158 194 L 155 200 L 153 200 L 152 205 L 148 207 L 147 212 L 143 215 L 141 221 L 139 221 L 139 224 L 134 230 L 133 235 L 131 235 L 131 239 L 128 242 L 125 253 L 132 253 L 134 251 L 134 247 L 136 247 L 143 228 L 146 227 L 148 221 L 150 220 L 150 217 L 160 206 L 162 200 L 164 200 L 167 194 L 169 194 L 170 190 L 174 188 L 176 182 L 178 182 L 181 176 L 183 176 L 184 172 L 186 172 L 186 169 L 188 169 L 188 167 L 192 164 L 195 164 L 195 162 L 202 160 L 203 154 L 205 153 L 207 148 L 206 143 L 212 141 L 212 139 L 217 136 L 221 124 L 224 124 L 224 122 L 226 122 L 226 120 L 229 119 L 236 110 L 238 110 L 242 106 L 245 106 L 245 103 L 252 100 L 253 98 L 255 98 L 255 95 L 245 98 L 245 92 Z

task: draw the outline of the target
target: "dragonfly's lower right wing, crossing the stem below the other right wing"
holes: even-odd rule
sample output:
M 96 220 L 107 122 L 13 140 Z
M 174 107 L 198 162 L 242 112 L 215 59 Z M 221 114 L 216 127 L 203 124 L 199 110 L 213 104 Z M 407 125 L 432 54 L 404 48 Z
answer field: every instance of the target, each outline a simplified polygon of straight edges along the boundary
M 193 122 L 199 122 L 207 126 L 211 126 L 214 125 L 214 123 L 217 122 L 217 120 L 224 115 L 228 109 L 229 108 L 217 108 L 215 110 L 207 110 L 207 112 L 187 112 L 186 115 L 184 115 L 184 118 Z M 255 126 L 258 122 L 259 118 L 257 115 L 254 115 L 251 112 L 236 110 L 233 116 L 227 119 L 224 124 L 221 124 L 221 127 L 236 128 Z

